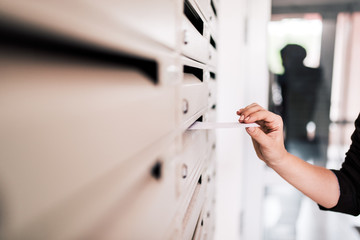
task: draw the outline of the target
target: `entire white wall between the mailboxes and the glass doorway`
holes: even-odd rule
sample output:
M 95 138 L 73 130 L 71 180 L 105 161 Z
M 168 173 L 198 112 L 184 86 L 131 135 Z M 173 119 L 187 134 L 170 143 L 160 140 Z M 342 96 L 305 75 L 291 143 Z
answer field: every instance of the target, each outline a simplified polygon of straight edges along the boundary
M 270 1 L 221 1 L 219 15 L 218 121 L 237 121 L 237 109 L 267 105 Z M 215 239 L 261 239 L 264 165 L 244 130 L 218 130 L 217 140 Z

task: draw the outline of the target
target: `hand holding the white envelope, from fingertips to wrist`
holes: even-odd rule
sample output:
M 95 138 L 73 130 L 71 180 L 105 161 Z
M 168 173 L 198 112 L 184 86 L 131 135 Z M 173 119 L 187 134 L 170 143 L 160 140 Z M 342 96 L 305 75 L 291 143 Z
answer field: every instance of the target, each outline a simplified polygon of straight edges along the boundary
M 288 154 L 284 147 L 283 121 L 279 115 L 253 103 L 239 109 L 240 123 L 257 123 L 246 129 L 251 136 L 257 156 L 270 167 L 280 164 Z

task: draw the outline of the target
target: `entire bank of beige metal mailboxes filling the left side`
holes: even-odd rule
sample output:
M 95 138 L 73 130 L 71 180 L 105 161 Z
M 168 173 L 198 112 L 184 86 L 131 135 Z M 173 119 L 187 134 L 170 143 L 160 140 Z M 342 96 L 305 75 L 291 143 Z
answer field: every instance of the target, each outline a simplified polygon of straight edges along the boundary
M 216 6 L 0 3 L 1 239 L 211 238 Z

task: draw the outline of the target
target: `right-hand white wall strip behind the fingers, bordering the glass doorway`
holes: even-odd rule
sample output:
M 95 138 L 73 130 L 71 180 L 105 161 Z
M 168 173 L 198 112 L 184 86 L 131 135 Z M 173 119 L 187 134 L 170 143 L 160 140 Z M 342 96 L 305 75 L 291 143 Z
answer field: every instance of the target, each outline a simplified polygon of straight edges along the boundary
M 270 0 L 248 1 L 248 40 L 245 104 L 257 102 L 267 107 L 269 75 L 267 65 L 267 23 L 270 19 Z M 262 205 L 265 164 L 260 161 L 247 138 L 244 144 L 243 232 L 244 240 L 262 239 Z

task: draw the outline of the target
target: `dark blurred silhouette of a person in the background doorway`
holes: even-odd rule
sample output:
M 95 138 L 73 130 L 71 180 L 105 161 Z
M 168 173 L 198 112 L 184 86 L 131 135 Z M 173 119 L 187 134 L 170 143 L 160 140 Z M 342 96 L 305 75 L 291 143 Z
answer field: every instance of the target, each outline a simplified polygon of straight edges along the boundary
M 318 90 L 321 84 L 320 68 L 310 68 L 304 65 L 306 50 L 295 44 L 286 45 L 281 50 L 281 58 L 285 72 L 278 76 L 283 98 L 281 115 L 285 126 L 285 144 L 289 150 L 297 148 L 302 157 L 304 151 L 313 152 L 309 148 L 316 145 L 316 139 L 309 137 L 307 124 L 314 122 L 314 112 Z

